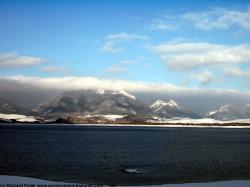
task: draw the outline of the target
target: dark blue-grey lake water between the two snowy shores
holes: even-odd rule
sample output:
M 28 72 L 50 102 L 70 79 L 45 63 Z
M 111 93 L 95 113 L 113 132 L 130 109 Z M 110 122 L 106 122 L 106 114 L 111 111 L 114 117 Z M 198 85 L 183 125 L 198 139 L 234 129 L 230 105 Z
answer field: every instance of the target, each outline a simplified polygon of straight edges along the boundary
M 0 174 L 109 185 L 250 179 L 250 129 L 1 126 Z

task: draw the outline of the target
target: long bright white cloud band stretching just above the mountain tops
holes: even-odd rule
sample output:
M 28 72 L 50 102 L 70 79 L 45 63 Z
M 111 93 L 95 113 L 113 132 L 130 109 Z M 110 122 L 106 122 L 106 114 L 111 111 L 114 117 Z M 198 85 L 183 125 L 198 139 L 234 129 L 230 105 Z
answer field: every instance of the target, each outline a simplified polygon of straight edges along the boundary
M 0 77 L 2 81 L 16 81 L 24 85 L 34 85 L 43 89 L 77 90 L 77 89 L 124 89 L 129 92 L 157 92 L 169 94 L 222 94 L 242 93 L 235 90 L 201 89 L 176 86 L 169 83 L 137 82 L 128 80 L 99 79 L 95 77 L 27 77 L 9 76 Z

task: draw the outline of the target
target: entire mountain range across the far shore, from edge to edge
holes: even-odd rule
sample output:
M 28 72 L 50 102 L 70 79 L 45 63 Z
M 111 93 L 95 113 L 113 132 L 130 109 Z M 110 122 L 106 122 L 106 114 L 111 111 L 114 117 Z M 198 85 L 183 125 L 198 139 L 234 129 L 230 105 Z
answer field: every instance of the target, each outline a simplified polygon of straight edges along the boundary
M 46 99 L 35 107 L 25 107 L 0 100 L 0 113 L 25 114 L 45 118 L 86 115 L 127 115 L 138 118 L 213 118 L 217 120 L 248 119 L 250 105 L 225 105 L 207 113 L 197 113 L 173 99 L 143 102 L 125 90 L 75 90 Z

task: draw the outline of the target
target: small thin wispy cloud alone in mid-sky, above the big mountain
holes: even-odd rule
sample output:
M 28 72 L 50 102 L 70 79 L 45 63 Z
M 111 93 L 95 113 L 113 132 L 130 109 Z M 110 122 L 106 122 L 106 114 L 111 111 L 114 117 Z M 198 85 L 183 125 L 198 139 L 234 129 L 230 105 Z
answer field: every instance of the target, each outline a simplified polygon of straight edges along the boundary
M 118 34 L 110 34 L 106 36 L 105 39 L 106 41 L 104 45 L 101 47 L 101 50 L 108 53 L 117 53 L 125 50 L 125 48 L 118 46 L 118 44 L 122 42 L 147 40 L 147 39 L 148 37 L 144 35 L 128 34 L 124 32 Z

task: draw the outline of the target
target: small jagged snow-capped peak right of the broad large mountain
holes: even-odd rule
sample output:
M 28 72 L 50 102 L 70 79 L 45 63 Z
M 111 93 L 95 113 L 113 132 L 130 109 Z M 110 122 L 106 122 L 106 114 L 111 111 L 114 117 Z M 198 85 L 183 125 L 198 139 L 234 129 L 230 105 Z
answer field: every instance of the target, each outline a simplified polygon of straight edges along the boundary
M 177 102 L 174 100 L 163 101 L 156 100 L 150 108 L 152 111 L 164 118 L 199 118 L 198 114 L 194 112 L 184 109 L 179 106 Z

